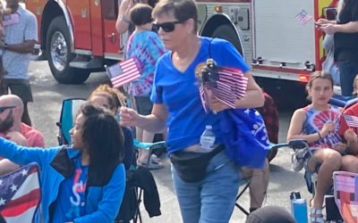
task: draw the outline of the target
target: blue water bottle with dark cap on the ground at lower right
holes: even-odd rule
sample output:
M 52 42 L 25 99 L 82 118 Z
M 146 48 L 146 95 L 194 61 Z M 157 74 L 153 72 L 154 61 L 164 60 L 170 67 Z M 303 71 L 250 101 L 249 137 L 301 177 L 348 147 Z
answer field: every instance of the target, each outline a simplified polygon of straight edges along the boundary
M 297 223 L 308 223 L 307 218 L 307 203 L 301 198 L 299 192 L 293 192 L 291 198 L 291 213 Z

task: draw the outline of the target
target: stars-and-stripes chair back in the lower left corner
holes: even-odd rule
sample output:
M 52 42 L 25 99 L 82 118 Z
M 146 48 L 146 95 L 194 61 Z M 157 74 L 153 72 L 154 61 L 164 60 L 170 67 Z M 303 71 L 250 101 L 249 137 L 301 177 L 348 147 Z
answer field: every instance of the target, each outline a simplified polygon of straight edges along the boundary
M 37 164 L 0 177 L 0 216 L 5 222 L 34 222 L 40 199 Z

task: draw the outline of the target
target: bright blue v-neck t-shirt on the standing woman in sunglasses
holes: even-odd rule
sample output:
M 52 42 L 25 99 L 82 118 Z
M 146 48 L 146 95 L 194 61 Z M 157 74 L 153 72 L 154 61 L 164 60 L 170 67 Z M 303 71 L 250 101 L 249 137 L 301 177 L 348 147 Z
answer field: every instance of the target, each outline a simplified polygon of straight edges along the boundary
M 213 127 L 216 143 L 221 142 L 217 115 L 211 111 L 206 113 L 202 107 L 196 67 L 213 58 L 220 67 L 240 69 L 243 73 L 250 70 L 243 56 L 226 40 L 200 37 L 200 42 L 199 53 L 185 71 L 175 68 L 172 52 L 164 54 L 157 64 L 150 98 L 153 103 L 163 103 L 169 113 L 166 120 L 168 153 L 199 144 L 206 125 Z

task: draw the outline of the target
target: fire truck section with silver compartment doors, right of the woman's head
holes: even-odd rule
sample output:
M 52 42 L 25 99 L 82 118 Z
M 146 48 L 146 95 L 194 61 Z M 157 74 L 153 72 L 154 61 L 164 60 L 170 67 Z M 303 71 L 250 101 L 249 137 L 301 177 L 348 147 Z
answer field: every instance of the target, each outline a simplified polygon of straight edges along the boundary
M 294 93 L 287 95 L 289 103 L 297 97 L 303 101 L 310 73 L 321 69 L 326 55 L 321 45 L 324 33 L 314 21 L 335 20 L 338 0 L 196 1 L 202 36 L 223 37 L 234 44 L 271 95 Z M 311 20 L 298 21 L 301 12 Z M 335 91 L 340 94 L 339 87 Z

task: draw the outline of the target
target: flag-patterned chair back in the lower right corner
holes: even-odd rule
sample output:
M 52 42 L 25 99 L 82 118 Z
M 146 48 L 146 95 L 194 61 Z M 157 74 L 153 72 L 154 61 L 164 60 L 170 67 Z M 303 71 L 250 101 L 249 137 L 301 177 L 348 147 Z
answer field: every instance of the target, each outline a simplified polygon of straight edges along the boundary
M 333 172 L 335 201 L 342 218 L 347 223 L 358 223 L 358 174 Z

